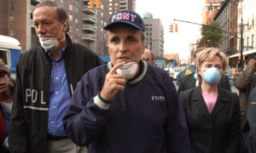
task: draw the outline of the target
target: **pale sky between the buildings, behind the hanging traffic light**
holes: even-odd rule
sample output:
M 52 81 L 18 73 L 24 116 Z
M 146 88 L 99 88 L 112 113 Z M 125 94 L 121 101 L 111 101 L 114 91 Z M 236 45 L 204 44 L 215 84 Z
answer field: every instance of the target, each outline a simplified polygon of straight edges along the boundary
M 164 26 L 164 54 L 179 54 L 180 59 L 187 59 L 189 44 L 200 38 L 201 26 L 180 22 L 201 23 L 204 0 L 137 0 L 136 12 L 143 17 L 149 12 L 154 19 L 160 19 Z M 174 19 L 176 21 L 174 21 Z M 169 26 L 177 23 L 177 32 L 169 32 Z

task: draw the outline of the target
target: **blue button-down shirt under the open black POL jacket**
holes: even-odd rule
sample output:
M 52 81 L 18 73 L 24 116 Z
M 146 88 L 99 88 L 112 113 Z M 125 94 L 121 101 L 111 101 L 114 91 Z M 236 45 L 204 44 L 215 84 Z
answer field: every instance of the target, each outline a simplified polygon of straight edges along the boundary
M 51 82 L 49 91 L 49 116 L 48 116 L 48 133 L 55 136 L 66 136 L 62 119 L 69 100 L 71 98 L 68 85 L 65 62 L 62 54 L 67 45 L 61 49 L 61 59 L 55 60 L 50 54 L 52 63 Z

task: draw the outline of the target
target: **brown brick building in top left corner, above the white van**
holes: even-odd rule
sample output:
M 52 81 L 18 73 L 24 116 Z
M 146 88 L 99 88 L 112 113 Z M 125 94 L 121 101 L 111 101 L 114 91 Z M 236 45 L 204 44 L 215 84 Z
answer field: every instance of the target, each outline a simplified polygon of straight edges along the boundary
M 0 0 L 0 34 L 18 39 L 22 50 L 31 44 L 29 10 L 28 1 Z

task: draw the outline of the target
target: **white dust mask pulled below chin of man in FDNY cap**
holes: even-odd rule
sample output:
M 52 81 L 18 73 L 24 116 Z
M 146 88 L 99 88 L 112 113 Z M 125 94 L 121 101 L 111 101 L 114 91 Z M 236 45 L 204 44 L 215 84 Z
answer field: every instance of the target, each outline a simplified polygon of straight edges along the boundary
M 117 73 L 122 73 L 126 80 L 131 80 L 137 73 L 138 64 L 137 62 L 126 63 L 117 69 Z

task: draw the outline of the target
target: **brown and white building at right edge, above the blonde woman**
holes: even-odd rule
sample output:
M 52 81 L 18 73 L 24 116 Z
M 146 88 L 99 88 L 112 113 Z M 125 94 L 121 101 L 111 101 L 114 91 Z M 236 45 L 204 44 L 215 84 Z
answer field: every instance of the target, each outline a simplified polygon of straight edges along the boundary
M 228 56 L 229 65 L 243 68 L 247 59 L 256 54 L 255 14 L 255 0 L 224 0 L 214 17 L 228 31 L 223 33 L 220 47 Z

